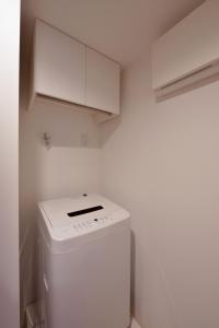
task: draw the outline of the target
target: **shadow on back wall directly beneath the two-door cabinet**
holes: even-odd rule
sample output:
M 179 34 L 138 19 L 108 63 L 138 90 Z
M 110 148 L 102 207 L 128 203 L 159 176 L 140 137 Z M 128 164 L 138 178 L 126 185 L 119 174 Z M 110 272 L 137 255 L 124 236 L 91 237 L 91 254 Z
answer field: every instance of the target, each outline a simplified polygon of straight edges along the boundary
M 38 99 L 26 114 L 26 119 L 41 143 L 47 132 L 51 147 L 100 148 L 99 126 L 91 115 L 82 110 Z

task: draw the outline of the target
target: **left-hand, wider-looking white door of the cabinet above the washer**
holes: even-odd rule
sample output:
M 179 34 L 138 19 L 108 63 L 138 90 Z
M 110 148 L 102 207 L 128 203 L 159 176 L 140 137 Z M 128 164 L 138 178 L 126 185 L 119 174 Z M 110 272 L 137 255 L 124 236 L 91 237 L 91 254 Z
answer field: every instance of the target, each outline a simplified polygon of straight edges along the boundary
M 58 30 L 36 22 L 35 92 L 84 104 L 85 46 Z

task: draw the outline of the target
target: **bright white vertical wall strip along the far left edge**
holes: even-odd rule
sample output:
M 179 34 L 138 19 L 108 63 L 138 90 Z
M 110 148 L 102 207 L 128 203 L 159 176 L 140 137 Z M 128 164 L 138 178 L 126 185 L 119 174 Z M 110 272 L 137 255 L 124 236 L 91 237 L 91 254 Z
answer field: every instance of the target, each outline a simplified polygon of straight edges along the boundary
M 0 326 L 19 327 L 20 1 L 0 4 Z

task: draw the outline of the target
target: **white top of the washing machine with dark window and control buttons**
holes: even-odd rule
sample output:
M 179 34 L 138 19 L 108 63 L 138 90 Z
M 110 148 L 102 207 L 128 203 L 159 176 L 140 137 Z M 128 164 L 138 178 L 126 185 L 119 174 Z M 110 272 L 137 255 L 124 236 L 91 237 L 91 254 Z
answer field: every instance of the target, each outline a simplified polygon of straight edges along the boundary
M 62 198 L 38 204 L 47 239 L 64 242 L 88 236 L 129 219 L 129 213 L 100 195 Z

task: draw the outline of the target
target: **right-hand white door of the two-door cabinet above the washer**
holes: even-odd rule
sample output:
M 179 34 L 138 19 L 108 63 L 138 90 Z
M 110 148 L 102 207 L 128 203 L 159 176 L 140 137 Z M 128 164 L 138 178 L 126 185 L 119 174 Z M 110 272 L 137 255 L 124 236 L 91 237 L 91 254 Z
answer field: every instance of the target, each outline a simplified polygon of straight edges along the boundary
M 119 65 L 87 47 L 85 104 L 119 114 Z

